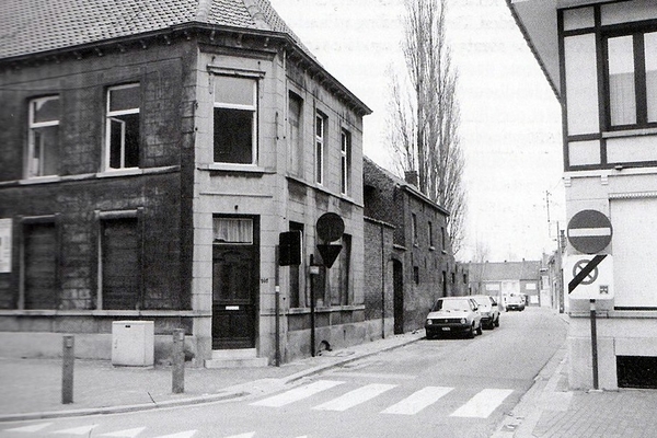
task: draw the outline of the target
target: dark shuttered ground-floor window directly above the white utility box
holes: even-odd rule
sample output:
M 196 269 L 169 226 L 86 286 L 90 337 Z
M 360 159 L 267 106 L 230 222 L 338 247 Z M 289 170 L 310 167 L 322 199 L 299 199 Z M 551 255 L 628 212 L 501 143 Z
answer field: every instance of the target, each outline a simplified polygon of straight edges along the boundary
M 137 217 L 101 220 L 100 296 L 102 309 L 141 307 L 141 233 Z

